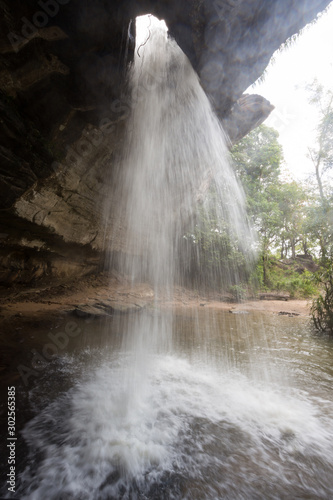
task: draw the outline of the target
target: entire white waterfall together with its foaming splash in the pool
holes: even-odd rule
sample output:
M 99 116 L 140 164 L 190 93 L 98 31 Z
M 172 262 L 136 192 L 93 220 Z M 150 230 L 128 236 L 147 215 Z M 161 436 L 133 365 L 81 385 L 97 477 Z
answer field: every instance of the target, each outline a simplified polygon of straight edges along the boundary
M 254 334 L 242 318 L 230 326 L 203 312 L 180 321 L 159 310 L 181 278 L 179 235 L 211 182 L 232 237 L 244 246 L 252 240 L 224 133 L 198 76 L 163 24 L 150 19 L 141 33 L 117 184 L 126 238 L 118 265 L 131 282 L 152 284 L 154 303 L 114 320 L 122 340 L 106 343 L 98 366 L 26 426 L 31 451 L 21 498 L 331 498 L 327 393 L 319 414 L 314 397 L 246 370 L 250 354 L 256 363 L 282 359 L 274 335 L 269 350 L 259 323 Z M 204 334 L 193 340 L 193 331 Z

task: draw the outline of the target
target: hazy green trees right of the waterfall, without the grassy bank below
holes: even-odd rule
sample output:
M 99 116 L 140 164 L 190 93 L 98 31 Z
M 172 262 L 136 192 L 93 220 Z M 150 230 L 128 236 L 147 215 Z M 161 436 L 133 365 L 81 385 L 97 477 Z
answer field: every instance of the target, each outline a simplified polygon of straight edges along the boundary
M 233 149 L 232 157 L 247 194 L 249 215 L 261 236 L 264 261 L 278 247 L 281 258 L 289 252 L 295 258 L 297 250 L 307 254 L 312 237 L 305 232 L 309 191 L 280 179 L 283 155 L 278 133 L 258 127 Z

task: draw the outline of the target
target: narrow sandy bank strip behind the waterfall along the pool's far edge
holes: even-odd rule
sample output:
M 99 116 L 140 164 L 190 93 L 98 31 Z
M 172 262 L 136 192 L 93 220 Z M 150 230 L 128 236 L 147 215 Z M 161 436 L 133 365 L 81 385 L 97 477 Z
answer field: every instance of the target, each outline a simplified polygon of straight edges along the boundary
M 221 301 L 221 299 L 223 301 Z M 111 279 L 105 275 L 88 277 L 71 285 L 59 285 L 54 288 L 41 288 L 35 290 L 11 291 L 6 297 L 0 299 L 0 323 L 24 318 L 42 320 L 54 318 L 59 314 L 73 311 L 78 305 L 94 304 L 96 300 L 107 300 L 111 304 L 131 307 L 140 303 L 141 306 L 149 305 L 153 300 L 153 292 L 149 285 L 137 285 L 131 288 L 122 278 L 113 276 Z M 262 311 L 266 313 L 285 313 L 309 316 L 310 302 L 307 300 L 249 300 L 241 303 L 226 302 L 225 297 L 218 295 L 203 297 L 195 292 L 176 287 L 172 302 L 163 298 L 160 306 L 164 307 L 205 307 L 210 309 L 237 311 Z

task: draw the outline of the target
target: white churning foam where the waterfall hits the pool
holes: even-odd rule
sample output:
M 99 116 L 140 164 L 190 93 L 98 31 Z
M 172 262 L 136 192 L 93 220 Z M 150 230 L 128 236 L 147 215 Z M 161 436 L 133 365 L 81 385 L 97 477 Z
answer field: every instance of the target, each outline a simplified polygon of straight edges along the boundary
M 308 494 L 318 463 L 327 467 L 332 426 L 311 400 L 159 355 L 145 393 L 129 408 L 126 363 L 125 354 L 106 360 L 26 427 L 31 456 L 43 458 L 23 474 L 22 498 L 157 499 L 164 498 L 165 482 L 165 498 L 215 498 L 219 488 L 250 498 L 255 478 L 275 485 L 281 498 L 296 491 L 300 470 Z

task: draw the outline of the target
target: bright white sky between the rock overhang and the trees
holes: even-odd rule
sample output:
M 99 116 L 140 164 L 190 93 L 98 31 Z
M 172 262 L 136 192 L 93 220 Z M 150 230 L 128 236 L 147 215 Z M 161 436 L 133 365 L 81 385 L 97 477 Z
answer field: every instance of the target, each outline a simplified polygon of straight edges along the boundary
M 286 167 L 299 180 L 314 171 L 307 152 L 314 144 L 319 118 L 305 90 L 314 78 L 333 88 L 333 2 L 290 47 L 274 54 L 264 81 L 247 90 L 275 106 L 265 124 L 278 130 Z

